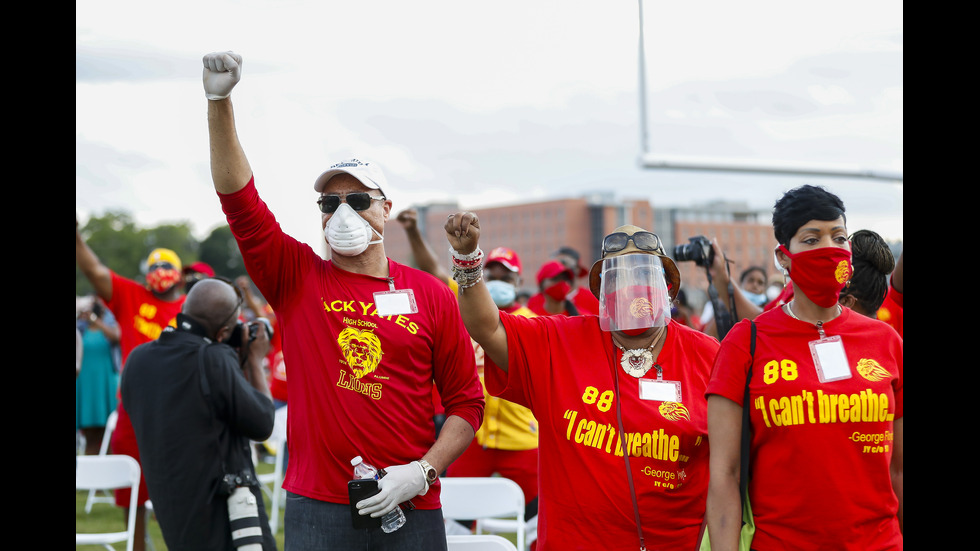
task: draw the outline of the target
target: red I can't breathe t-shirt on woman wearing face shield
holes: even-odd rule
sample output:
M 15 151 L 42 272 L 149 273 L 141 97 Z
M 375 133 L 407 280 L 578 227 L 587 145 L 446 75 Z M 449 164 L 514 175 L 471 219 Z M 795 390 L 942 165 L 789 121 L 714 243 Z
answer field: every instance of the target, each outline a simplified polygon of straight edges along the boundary
M 640 382 L 595 316 L 501 314 L 508 371 L 488 357 L 487 390 L 531 409 L 539 424 L 538 549 L 639 544 L 617 422 L 616 390 L 640 520 L 650 549 L 694 549 L 708 489 L 703 391 L 718 342 L 671 322 L 657 363 L 681 402 L 642 400 Z M 656 379 L 651 369 L 645 378 Z

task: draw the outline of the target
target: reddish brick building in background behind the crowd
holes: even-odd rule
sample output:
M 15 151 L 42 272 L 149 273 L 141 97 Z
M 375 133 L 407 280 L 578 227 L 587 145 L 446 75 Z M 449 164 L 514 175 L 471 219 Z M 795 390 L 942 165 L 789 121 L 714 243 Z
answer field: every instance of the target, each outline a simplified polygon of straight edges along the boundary
M 459 211 L 454 204 L 415 206 L 419 227 L 445 266 L 450 265 L 444 224 Z M 504 246 L 517 251 L 524 266 L 524 289 L 535 292 L 535 274 L 559 247 L 578 250 L 589 267 L 599 258 L 602 238 L 623 224 L 647 228 L 660 236 L 667 253 L 687 244 L 690 237 L 717 237 L 734 261 L 733 277 L 751 265 L 774 271 L 776 247 L 768 214 L 749 210 L 744 204 L 710 203 L 699 207 L 657 208 L 646 199 L 615 199 L 612 193 L 579 198 L 474 209 L 480 217 L 480 245 L 484 251 Z M 385 228 L 385 250 L 392 259 L 414 265 L 411 249 L 400 224 L 394 219 Z M 700 307 L 707 288 L 704 268 L 694 262 L 678 262 L 682 288 L 693 306 Z M 580 284 L 587 284 L 584 281 Z

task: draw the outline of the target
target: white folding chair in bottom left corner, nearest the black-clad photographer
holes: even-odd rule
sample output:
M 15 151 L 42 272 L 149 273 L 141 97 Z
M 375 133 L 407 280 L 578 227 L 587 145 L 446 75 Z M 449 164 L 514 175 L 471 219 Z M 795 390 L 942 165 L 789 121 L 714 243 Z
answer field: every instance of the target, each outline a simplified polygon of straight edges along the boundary
M 140 466 L 128 455 L 82 455 L 75 458 L 75 490 L 129 488 L 129 518 L 124 532 L 78 533 L 75 545 L 102 545 L 109 551 L 111 544 L 126 542 L 126 551 L 133 551 L 136 530 L 136 505 L 139 499 Z

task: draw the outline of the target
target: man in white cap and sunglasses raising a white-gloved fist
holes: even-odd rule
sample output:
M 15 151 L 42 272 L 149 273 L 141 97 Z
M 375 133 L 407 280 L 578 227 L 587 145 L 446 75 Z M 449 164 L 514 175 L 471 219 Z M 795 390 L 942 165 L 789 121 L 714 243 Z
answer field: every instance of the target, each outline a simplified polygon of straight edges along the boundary
M 245 267 L 282 326 L 289 369 L 287 545 L 444 550 L 438 473 L 473 440 L 484 407 L 453 293 L 386 256 L 392 202 L 375 163 L 345 160 L 314 182 L 330 260 L 285 234 L 259 197 L 238 139 L 229 96 L 241 77 L 241 56 L 211 53 L 203 62 L 214 189 Z M 446 410 L 438 438 L 433 384 Z M 386 474 L 380 493 L 351 504 L 356 456 Z M 354 528 L 355 514 L 380 521 L 409 501 L 414 509 L 394 532 Z

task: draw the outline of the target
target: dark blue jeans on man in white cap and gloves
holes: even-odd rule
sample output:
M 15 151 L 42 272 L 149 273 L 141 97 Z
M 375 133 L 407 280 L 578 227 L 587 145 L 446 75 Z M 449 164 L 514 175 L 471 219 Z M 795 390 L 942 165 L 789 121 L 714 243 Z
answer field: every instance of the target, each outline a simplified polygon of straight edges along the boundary
M 381 528 L 355 530 L 350 506 L 287 492 L 283 519 L 286 551 L 446 551 L 442 509 L 405 511 L 406 522 L 385 534 Z

